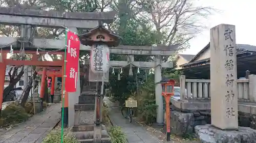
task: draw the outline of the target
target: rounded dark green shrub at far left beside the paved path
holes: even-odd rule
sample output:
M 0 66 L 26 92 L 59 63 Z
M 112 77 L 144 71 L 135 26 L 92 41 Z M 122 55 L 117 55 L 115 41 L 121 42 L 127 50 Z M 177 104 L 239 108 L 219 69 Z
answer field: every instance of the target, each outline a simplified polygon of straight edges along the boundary
M 29 115 L 26 110 L 16 103 L 11 103 L 2 111 L 0 126 L 9 126 L 28 120 Z

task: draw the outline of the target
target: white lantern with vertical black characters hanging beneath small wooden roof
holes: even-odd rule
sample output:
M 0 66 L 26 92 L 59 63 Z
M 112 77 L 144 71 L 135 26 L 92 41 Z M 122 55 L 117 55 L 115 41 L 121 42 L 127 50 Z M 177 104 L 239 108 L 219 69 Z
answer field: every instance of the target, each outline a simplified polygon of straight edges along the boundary
M 109 71 L 110 61 L 109 47 L 106 45 L 93 45 L 91 47 L 90 65 L 94 73 L 106 73 Z

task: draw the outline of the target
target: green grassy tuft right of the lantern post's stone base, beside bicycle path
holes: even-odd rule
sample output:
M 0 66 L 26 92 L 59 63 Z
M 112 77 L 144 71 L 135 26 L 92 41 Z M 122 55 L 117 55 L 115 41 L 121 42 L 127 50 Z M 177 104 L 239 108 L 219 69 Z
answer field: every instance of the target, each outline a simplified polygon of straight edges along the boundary
M 126 134 L 121 131 L 121 128 L 118 126 L 110 127 L 110 140 L 111 143 L 126 143 Z

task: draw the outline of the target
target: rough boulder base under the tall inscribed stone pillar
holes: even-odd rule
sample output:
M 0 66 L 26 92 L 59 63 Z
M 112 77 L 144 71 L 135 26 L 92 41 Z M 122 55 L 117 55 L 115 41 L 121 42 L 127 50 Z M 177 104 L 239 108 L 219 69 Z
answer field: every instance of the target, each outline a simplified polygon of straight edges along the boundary
M 199 125 L 195 132 L 202 143 L 239 143 L 256 142 L 256 130 L 239 127 L 237 131 L 224 131 L 211 125 Z

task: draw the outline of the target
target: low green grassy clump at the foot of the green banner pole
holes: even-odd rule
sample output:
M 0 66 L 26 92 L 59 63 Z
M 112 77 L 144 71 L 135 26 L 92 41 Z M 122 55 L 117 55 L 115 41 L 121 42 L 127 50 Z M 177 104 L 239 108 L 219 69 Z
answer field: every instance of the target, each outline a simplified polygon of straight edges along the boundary
M 42 143 L 59 143 L 61 142 L 61 131 L 52 131 L 49 133 Z M 75 136 L 67 135 L 67 133 L 63 134 L 63 143 L 79 143 L 79 141 L 75 138 Z

